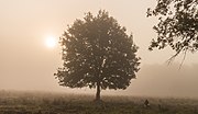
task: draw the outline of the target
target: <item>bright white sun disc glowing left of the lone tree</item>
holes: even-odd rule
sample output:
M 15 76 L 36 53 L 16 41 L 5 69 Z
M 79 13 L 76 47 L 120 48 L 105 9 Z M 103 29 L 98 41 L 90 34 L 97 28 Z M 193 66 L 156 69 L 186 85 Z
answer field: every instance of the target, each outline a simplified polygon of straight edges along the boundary
M 57 41 L 54 36 L 47 36 L 45 39 L 45 45 L 48 48 L 54 48 L 57 44 Z

